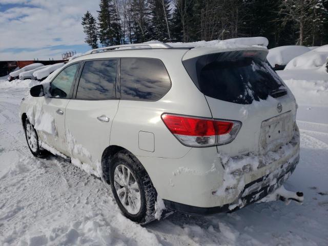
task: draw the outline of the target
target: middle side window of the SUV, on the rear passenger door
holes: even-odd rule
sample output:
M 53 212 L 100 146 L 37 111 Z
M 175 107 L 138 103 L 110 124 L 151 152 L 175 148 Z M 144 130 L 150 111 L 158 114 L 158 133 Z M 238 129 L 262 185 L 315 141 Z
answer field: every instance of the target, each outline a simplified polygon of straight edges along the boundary
M 87 61 L 78 83 L 76 99 L 110 99 L 115 97 L 117 60 Z

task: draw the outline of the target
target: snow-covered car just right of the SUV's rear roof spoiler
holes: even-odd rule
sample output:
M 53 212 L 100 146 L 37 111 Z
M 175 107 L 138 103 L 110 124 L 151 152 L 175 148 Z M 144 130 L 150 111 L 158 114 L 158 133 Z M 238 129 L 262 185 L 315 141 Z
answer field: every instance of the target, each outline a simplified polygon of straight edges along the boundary
M 274 70 L 283 70 L 294 57 L 311 51 L 311 48 L 299 45 L 288 45 L 269 50 L 268 61 Z

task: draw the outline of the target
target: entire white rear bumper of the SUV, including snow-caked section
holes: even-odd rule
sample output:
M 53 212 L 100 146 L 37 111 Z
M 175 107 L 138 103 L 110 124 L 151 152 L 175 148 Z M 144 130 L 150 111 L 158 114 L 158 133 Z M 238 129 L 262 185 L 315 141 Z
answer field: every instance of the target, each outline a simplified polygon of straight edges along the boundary
M 290 176 L 299 160 L 299 132 L 279 150 L 261 156 L 229 157 L 209 147 L 192 148 L 178 159 L 137 157 L 169 209 L 232 211 L 261 199 Z

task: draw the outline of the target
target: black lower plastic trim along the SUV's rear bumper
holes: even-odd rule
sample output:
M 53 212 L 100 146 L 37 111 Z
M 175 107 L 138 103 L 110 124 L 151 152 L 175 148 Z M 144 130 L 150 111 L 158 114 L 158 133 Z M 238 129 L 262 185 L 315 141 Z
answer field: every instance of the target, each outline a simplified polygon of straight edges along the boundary
M 294 172 L 298 164 L 298 161 L 299 161 L 299 156 L 295 158 L 293 162 L 288 163 L 288 165 L 285 164 L 281 165 L 279 167 L 279 170 L 275 174 L 276 182 L 274 184 L 269 183 L 267 185 L 263 185 L 263 182 L 267 180 L 270 175 L 272 175 L 270 173 L 245 185 L 244 189 L 240 192 L 238 201 L 241 202 L 239 202 L 238 204 L 228 203 L 218 207 L 201 208 L 201 207 L 190 206 L 187 204 L 182 204 L 179 202 L 174 202 L 165 199 L 163 199 L 163 201 L 168 210 L 187 213 L 187 214 L 210 215 L 215 213 L 233 212 L 240 208 L 248 206 L 249 204 L 261 200 L 265 196 L 271 194 L 276 189 L 278 189 L 282 185 L 282 183 L 286 179 L 288 179 L 289 176 Z M 260 188 L 256 191 L 249 193 L 248 190 L 254 186 Z

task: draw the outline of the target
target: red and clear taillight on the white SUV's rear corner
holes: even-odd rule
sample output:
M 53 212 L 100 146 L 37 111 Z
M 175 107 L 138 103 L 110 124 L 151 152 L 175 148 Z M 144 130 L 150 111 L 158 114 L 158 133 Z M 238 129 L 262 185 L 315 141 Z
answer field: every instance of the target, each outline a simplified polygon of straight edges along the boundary
M 162 120 L 171 133 L 190 147 L 225 145 L 235 139 L 241 123 L 232 120 L 214 120 L 175 114 L 162 114 Z

